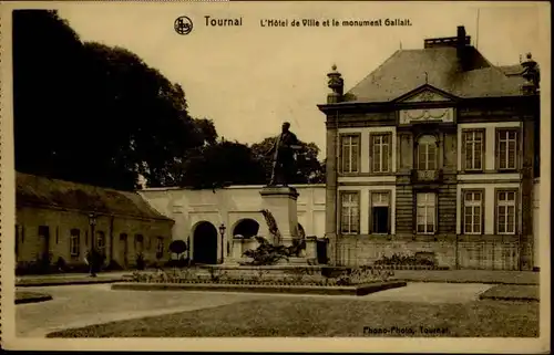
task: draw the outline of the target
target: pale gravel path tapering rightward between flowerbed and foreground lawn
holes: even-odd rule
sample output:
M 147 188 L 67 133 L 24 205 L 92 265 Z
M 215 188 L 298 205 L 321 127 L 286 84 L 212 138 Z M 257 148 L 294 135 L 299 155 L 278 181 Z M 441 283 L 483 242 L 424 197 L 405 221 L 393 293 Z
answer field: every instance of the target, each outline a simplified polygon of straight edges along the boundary
M 48 292 L 53 297 L 44 303 L 17 305 L 17 335 L 33 337 L 68 327 L 213 307 L 256 297 L 178 291 L 111 291 L 109 284 L 25 288 L 25 291 Z

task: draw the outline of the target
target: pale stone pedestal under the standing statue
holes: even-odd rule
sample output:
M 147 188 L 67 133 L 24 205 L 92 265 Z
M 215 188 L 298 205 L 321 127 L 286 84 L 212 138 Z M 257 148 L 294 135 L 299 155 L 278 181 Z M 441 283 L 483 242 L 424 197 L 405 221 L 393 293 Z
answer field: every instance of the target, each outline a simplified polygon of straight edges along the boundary
M 264 200 L 264 209 L 273 215 L 280 232 L 280 240 L 274 240 L 273 243 L 293 246 L 293 240 L 299 238 L 296 207 L 298 192 L 291 187 L 266 186 L 259 194 Z

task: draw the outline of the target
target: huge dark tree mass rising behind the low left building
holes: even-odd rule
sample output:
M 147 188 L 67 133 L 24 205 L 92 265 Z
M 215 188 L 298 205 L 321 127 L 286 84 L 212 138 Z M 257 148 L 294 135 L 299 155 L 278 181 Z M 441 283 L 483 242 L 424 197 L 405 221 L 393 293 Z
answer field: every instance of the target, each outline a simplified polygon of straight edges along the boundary
M 55 11 L 13 12 L 16 168 L 134 189 L 174 185 L 189 150 L 213 144 L 185 93 L 136 54 L 83 43 Z M 40 59 L 40 60 L 39 60 Z

